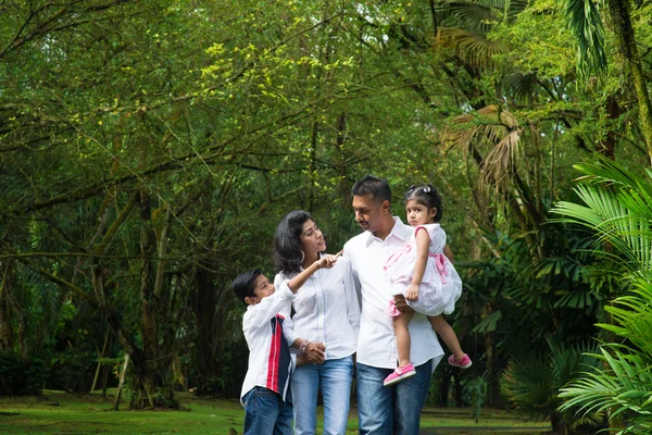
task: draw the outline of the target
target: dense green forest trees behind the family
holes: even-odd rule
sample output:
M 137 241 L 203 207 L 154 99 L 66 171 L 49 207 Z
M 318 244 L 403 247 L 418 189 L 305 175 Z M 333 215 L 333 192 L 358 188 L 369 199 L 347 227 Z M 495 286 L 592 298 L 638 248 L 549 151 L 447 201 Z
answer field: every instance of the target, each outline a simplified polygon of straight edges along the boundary
M 290 210 L 341 249 L 371 173 L 400 216 L 411 184 L 443 196 L 474 366 L 442 364 L 429 400 L 513 405 L 519 366 L 617 333 L 595 324 L 628 289 L 618 247 L 552 211 L 580 201 L 578 164 L 650 167 L 651 20 L 637 0 L 0 2 L 0 393 L 115 385 L 128 353 L 135 407 L 237 397 L 230 279 L 274 274 Z M 564 377 L 528 373 L 554 414 Z

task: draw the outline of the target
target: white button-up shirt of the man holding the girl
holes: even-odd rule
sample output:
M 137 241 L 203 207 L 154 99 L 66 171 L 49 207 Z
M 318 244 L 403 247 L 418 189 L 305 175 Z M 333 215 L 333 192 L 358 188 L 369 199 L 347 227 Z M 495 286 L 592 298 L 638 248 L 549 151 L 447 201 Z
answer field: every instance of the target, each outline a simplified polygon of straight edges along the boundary
M 383 266 L 388 257 L 402 248 L 414 232 L 397 216 L 385 240 L 364 232 L 344 245 L 344 257 L 351 261 L 356 287 L 362 297 L 362 315 L 358 337 L 356 361 L 380 369 L 396 369 L 399 359 L 392 318 L 385 312 L 393 291 Z M 443 350 L 428 318 L 415 313 L 409 325 L 412 346 L 410 360 L 416 365 L 434 360 L 432 371 Z

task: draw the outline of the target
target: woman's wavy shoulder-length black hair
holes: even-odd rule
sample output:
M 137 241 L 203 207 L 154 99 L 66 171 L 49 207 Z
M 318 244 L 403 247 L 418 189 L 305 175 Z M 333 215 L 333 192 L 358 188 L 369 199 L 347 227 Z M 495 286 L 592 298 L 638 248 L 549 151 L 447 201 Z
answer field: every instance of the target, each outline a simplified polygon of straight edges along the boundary
M 277 272 L 286 275 L 301 272 L 303 254 L 301 252 L 301 232 L 303 224 L 313 221 L 312 215 L 303 210 L 294 210 L 286 214 L 274 233 L 274 265 Z

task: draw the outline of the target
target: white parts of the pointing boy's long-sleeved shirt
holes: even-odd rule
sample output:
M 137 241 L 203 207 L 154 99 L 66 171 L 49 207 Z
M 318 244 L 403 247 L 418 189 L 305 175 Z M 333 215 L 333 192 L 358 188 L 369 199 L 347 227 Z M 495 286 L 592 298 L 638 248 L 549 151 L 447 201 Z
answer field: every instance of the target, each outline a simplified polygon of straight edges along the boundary
M 244 376 L 244 382 L 242 383 L 240 401 L 242 401 L 242 397 L 244 397 L 251 388 L 255 386 L 266 388 L 269 369 L 268 356 L 272 346 L 269 321 L 275 318 L 276 314 L 283 315 L 281 312 L 289 307 L 296 297 L 297 295 L 288 287 L 288 281 L 285 281 L 276 287 L 273 295 L 263 298 L 256 304 L 247 307 L 247 312 L 244 312 L 244 315 L 242 316 L 242 332 L 244 333 L 247 346 L 249 347 L 249 368 L 247 370 L 247 375 Z M 291 346 L 291 341 L 288 340 L 287 334 L 285 334 L 285 323 L 288 320 L 287 316 L 285 318 L 283 327 L 284 337 L 288 343 L 288 346 Z M 291 356 L 289 366 L 287 368 L 288 373 L 291 374 L 293 366 L 294 356 Z M 289 385 L 288 376 L 288 382 L 284 386 L 283 391 L 279 391 L 284 400 L 286 399 Z

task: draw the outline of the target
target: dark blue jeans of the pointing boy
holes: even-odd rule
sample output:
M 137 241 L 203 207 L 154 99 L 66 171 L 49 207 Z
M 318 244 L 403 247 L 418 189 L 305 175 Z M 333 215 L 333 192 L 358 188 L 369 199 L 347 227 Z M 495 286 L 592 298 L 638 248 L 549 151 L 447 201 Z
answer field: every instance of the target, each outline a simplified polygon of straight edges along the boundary
M 243 435 L 292 435 L 292 405 L 278 393 L 253 387 L 243 397 Z

